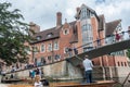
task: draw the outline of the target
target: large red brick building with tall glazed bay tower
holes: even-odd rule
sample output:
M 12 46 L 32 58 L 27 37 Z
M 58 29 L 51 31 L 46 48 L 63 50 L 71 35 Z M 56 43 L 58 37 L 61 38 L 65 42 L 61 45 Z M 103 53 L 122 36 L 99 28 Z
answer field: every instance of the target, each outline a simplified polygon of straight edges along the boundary
M 78 52 L 83 52 L 98 47 L 94 42 L 98 38 L 102 39 L 121 32 L 121 20 L 105 22 L 104 15 L 98 15 L 94 10 L 82 4 L 76 9 L 76 21 L 70 23 L 65 20 L 62 23 L 62 13 L 56 13 L 55 27 L 40 32 L 40 27 L 30 23 L 30 30 L 37 40 L 30 44 L 29 63 L 34 62 L 37 65 L 52 63 L 64 60 L 67 57 L 66 49 L 79 48 Z M 112 44 L 115 38 L 109 37 L 101 41 Z M 91 42 L 91 44 L 89 44 Z M 83 46 L 87 45 L 88 46 Z M 72 51 L 72 54 L 74 52 Z M 125 51 L 113 52 L 107 55 L 99 57 L 92 60 L 94 65 L 100 66 L 128 66 Z

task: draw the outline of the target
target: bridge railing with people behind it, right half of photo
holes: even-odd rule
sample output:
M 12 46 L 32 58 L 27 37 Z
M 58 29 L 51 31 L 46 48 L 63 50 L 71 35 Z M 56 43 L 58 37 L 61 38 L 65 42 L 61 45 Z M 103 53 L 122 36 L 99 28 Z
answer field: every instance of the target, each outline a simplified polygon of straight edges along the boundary
M 69 51 L 69 52 L 72 52 L 72 54 L 73 54 L 72 57 L 74 57 L 75 54 L 80 54 L 86 51 L 94 50 L 94 49 L 98 49 L 98 48 L 101 48 L 104 46 L 113 45 L 113 44 L 128 40 L 128 39 L 130 39 L 130 30 L 121 32 L 121 33 L 118 33 L 115 35 L 109 35 L 105 38 L 96 39 L 92 42 L 84 44 L 77 48 L 72 48 L 73 51 Z M 77 52 L 74 49 L 76 49 Z

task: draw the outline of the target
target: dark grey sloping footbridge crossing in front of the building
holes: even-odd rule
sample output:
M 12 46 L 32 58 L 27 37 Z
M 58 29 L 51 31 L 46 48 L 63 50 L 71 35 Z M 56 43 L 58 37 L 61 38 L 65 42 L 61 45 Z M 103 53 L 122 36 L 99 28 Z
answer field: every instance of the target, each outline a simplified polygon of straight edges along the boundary
M 128 48 L 130 48 L 130 37 L 127 37 L 128 34 L 129 34 L 129 30 L 128 32 L 122 32 L 122 33 L 119 34 L 119 35 L 121 35 L 120 40 L 115 39 L 109 44 L 106 42 L 102 46 L 92 48 L 88 51 L 80 52 L 77 55 L 73 55 L 72 58 L 67 58 L 66 61 L 73 63 L 74 65 L 78 65 L 82 62 L 82 60 L 83 60 L 82 58 L 84 57 L 84 54 L 88 54 L 90 59 L 93 59 L 93 58 L 101 57 L 101 55 L 104 55 L 104 54 L 109 54 L 112 52 L 128 49 Z M 107 39 L 115 38 L 115 37 L 116 37 L 115 35 L 112 35 L 109 37 L 106 37 L 106 38 L 103 38 L 103 39 L 100 39 L 100 40 L 105 42 Z M 93 42 L 80 46 L 80 47 L 77 48 L 77 50 L 80 50 L 80 49 L 82 49 L 83 47 L 87 47 L 87 46 L 91 46 L 91 44 L 95 44 L 95 42 L 98 42 L 98 41 L 93 41 Z

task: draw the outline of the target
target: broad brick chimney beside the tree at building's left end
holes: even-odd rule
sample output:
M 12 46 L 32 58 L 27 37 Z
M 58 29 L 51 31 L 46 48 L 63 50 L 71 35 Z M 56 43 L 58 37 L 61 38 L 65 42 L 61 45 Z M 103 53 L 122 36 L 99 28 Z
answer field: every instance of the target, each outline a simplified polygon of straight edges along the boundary
M 32 22 L 30 22 L 29 23 L 29 34 L 34 35 L 34 34 L 37 34 L 39 32 L 40 32 L 40 26 L 35 24 L 35 23 L 32 23 Z

